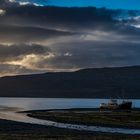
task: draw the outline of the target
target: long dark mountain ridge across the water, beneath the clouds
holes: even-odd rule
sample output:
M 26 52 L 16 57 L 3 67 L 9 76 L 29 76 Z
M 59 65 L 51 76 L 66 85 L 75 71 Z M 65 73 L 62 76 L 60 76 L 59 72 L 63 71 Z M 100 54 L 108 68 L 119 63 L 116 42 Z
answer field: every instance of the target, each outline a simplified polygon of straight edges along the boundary
M 140 98 L 140 66 L 2 77 L 0 96 Z

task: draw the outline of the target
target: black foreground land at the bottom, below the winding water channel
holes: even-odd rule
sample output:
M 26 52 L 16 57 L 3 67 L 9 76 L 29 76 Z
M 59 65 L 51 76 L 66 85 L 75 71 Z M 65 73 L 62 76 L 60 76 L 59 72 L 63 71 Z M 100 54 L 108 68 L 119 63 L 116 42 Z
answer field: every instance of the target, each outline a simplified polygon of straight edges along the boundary
M 140 136 L 59 129 L 0 120 L 0 140 L 140 140 Z

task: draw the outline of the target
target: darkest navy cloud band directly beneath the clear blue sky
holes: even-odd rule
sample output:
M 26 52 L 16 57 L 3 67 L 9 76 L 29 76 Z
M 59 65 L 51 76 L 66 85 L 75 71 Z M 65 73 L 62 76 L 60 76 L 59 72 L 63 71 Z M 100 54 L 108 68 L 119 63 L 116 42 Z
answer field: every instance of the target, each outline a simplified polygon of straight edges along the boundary
M 57 27 L 64 29 L 73 28 L 109 28 L 116 21 L 112 16 L 118 11 L 88 8 L 58 8 L 38 6 L 18 6 L 8 8 L 5 16 L 1 17 L 2 23 L 32 26 Z M 12 20 L 13 19 L 13 20 Z M 98 24 L 97 24 L 98 23 Z M 105 26 L 105 27 L 104 27 Z

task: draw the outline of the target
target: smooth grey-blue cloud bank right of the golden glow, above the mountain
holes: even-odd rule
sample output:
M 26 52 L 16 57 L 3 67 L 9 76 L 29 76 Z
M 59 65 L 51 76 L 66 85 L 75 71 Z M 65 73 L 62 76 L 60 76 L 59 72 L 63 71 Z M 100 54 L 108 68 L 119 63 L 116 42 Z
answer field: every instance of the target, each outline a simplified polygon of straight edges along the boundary
M 80 46 L 80 47 L 78 47 Z M 54 69 L 138 65 L 140 43 L 84 41 L 56 45 L 57 55 L 49 62 Z M 65 54 L 71 55 L 65 55 Z

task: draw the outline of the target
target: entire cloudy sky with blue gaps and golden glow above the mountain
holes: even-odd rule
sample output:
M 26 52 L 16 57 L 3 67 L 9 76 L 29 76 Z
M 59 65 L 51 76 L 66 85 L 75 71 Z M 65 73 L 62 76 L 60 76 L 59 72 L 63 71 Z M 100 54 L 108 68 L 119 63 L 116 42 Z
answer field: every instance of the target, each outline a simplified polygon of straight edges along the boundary
M 0 76 L 140 65 L 138 3 L 0 0 Z

